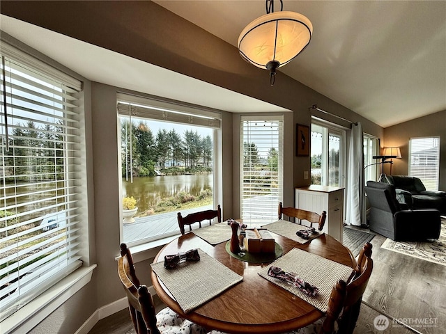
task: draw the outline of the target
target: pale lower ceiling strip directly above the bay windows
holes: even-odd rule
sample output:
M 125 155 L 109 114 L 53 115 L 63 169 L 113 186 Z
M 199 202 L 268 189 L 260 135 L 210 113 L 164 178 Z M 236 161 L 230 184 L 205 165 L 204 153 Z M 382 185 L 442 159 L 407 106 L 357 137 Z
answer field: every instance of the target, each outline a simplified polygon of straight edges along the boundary
M 91 81 L 229 112 L 289 111 L 5 15 L 0 31 Z

